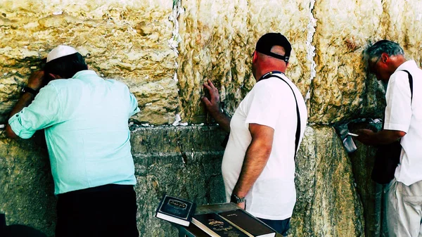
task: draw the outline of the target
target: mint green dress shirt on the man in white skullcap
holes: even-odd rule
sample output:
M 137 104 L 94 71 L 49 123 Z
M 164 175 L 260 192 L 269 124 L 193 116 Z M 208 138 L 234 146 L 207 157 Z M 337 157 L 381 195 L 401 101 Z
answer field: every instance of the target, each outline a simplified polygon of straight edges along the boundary
M 136 184 L 127 123 L 138 112 L 125 84 L 84 70 L 49 82 L 8 122 L 23 139 L 45 129 L 54 193 L 60 194 Z

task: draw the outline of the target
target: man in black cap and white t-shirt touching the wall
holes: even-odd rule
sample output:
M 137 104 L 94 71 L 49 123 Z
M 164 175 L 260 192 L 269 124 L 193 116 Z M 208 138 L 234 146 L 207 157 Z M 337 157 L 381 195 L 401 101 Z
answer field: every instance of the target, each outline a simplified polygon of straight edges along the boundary
M 303 96 L 284 75 L 290 51 L 290 42 L 279 33 L 257 41 L 252 56 L 257 84 L 233 117 L 220 110 L 212 82 L 204 84 L 210 96 L 202 98 L 210 115 L 230 132 L 222 161 L 227 201 L 285 236 L 296 201 L 295 153 L 307 124 Z

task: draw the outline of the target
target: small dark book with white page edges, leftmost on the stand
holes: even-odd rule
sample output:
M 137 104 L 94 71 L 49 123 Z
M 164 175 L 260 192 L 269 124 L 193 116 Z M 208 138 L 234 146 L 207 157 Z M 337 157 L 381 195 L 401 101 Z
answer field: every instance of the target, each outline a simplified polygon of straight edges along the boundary
M 196 204 L 181 198 L 165 195 L 158 205 L 155 217 L 168 222 L 189 226 Z

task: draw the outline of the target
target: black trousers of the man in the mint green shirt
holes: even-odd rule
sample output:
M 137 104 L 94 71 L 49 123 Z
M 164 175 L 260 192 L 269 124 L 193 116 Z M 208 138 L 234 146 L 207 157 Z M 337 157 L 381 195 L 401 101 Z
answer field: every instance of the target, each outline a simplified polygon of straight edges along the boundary
M 56 237 L 138 237 L 131 185 L 108 184 L 58 195 Z

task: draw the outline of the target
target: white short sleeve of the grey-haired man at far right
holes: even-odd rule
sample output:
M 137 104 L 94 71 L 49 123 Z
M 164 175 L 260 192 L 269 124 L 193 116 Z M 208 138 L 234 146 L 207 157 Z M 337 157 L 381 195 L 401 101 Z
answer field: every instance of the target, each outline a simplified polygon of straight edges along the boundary
M 411 92 L 406 72 L 397 72 L 390 79 L 385 100 L 384 129 L 407 133 L 411 120 Z

